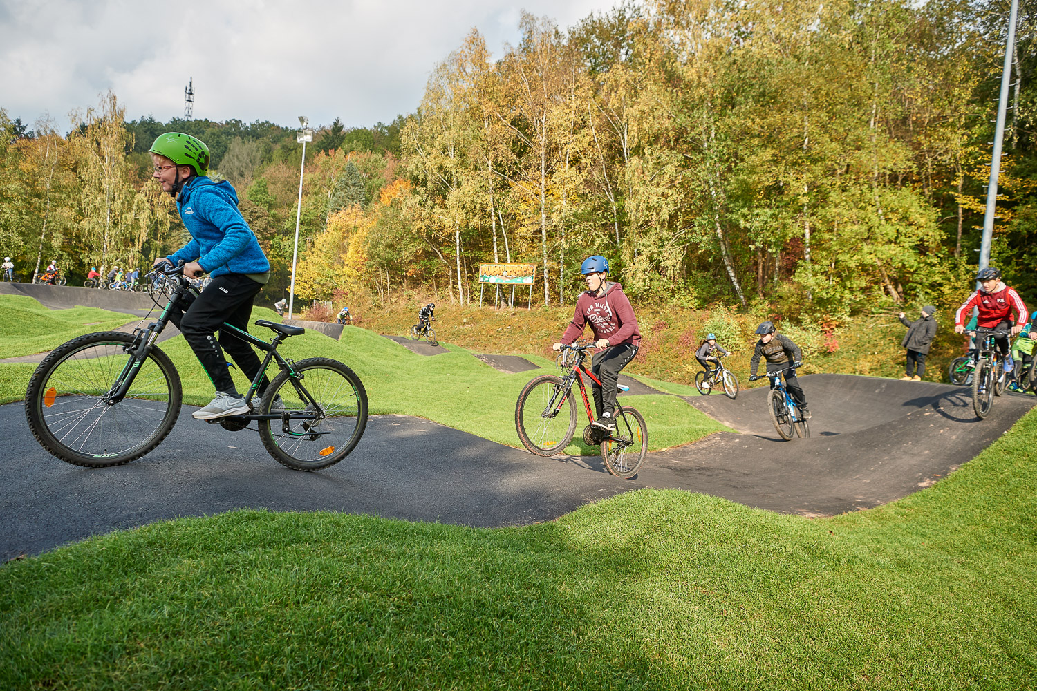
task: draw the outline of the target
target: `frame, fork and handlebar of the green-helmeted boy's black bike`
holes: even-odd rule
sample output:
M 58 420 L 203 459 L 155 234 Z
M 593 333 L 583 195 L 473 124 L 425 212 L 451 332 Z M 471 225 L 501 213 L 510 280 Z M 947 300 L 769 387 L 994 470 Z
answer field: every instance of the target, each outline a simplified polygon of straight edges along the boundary
M 133 335 L 136 340 L 134 341 L 134 344 L 131 345 L 129 348 L 131 358 L 125 364 L 125 367 L 123 367 L 122 372 L 116 378 L 115 383 L 112 385 L 112 388 L 106 396 L 106 402 L 108 403 L 108 405 L 114 405 L 120 402 L 125 397 L 127 392 L 130 391 L 130 386 L 133 385 L 134 379 L 137 378 L 137 373 L 140 370 L 141 364 L 146 359 L 148 353 L 150 353 L 151 349 L 155 347 L 155 342 L 159 338 L 159 334 L 161 334 L 165 329 L 166 325 L 169 323 L 173 310 L 176 309 L 175 306 L 177 303 L 179 303 L 180 297 L 184 296 L 184 293 L 191 292 L 196 297 L 198 296 L 198 291 L 195 290 L 195 288 L 191 286 L 190 283 L 188 283 L 187 279 L 183 276 L 183 269 L 178 269 L 180 271 L 179 273 L 176 273 L 175 272 L 176 270 L 177 269 L 173 269 L 172 273 L 170 272 L 164 273 L 167 277 L 169 276 L 177 277 L 177 280 L 174 280 L 176 287 L 173 290 L 173 294 L 170 296 L 169 301 L 166 304 L 165 309 L 163 309 L 162 314 L 159 316 L 159 320 L 151 322 L 146 327 L 134 329 Z M 297 372 L 296 369 L 292 367 L 291 361 L 282 357 L 281 354 L 277 351 L 277 347 L 281 344 L 281 342 L 284 341 L 285 338 L 287 338 L 287 336 L 278 333 L 272 341 L 267 342 L 260 338 L 252 336 L 252 334 L 249 334 L 248 332 L 237 328 L 232 324 L 228 324 L 227 322 L 223 322 L 222 327 L 230 329 L 233 333 L 233 335 L 240 338 L 241 340 L 267 353 L 267 355 L 263 357 L 262 365 L 259 367 L 259 371 L 256 373 L 255 379 L 252 380 L 251 385 L 249 386 L 248 394 L 246 394 L 245 396 L 246 403 L 252 402 L 255 393 L 259 388 L 259 383 L 262 381 L 262 378 L 267 373 L 267 368 L 270 367 L 271 361 L 276 359 L 277 365 L 280 369 L 288 371 L 289 376 L 291 378 L 291 384 L 292 386 L 295 386 L 296 392 L 299 394 L 300 399 L 306 402 L 307 407 L 313 406 L 315 409 L 315 412 L 282 411 L 280 413 L 268 413 L 268 414 L 249 413 L 244 415 L 234 415 L 233 416 L 234 419 L 249 420 L 249 421 L 280 420 L 283 423 L 282 431 L 292 436 L 330 434 L 330 432 L 307 432 L 305 434 L 300 434 L 297 432 L 292 432 L 288 428 L 289 420 L 318 420 L 324 416 L 324 410 L 320 408 L 320 405 L 313 399 L 310 393 L 306 391 L 305 387 L 299 384 L 299 372 Z

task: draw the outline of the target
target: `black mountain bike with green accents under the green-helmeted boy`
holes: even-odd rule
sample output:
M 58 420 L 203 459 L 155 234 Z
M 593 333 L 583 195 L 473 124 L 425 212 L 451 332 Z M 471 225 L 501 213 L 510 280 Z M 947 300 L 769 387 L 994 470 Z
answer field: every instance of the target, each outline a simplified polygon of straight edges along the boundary
M 183 266 L 165 272 L 175 287 L 158 322 L 133 334 L 102 332 L 68 341 L 36 368 L 25 395 L 25 415 L 39 443 L 74 465 L 106 467 L 144 456 L 169 434 L 181 402 L 180 378 L 155 343 L 185 292 L 193 290 Z M 274 332 L 270 342 L 224 323 L 267 353 L 246 395 L 250 414 L 206 421 L 243 430 L 255 421 L 271 456 L 296 470 L 333 465 L 360 441 L 367 424 L 367 392 L 342 363 L 282 357 L 278 345 L 306 329 L 259 320 Z M 256 395 L 272 362 L 280 370 L 263 397 Z

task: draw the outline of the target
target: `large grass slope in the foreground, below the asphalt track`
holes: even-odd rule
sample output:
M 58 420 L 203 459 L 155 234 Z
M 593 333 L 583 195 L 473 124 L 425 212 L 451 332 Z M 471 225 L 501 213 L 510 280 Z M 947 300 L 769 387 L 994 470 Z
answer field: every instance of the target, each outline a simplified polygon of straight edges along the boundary
M 157 523 L 0 569 L 0 688 L 1035 688 L 1035 495 L 1031 412 L 832 519 L 641 490 L 522 528 Z

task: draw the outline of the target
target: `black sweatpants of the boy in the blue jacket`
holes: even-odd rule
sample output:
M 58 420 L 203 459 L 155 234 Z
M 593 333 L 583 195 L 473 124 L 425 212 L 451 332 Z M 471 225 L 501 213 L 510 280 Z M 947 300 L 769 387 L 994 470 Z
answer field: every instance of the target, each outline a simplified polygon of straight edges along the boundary
M 198 297 L 185 293 L 176 306 L 180 311 L 174 309 L 169 315 L 218 392 L 237 393 L 224 350 L 230 353 L 249 380 L 254 379 L 262 367 L 251 345 L 234 335 L 232 329 L 221 327 L 223 322 L 227 322 L 247 332 L 252 301 L 261 288 L 261 284 L 243 273 L 217 276 Z M 216 339 L 217 330 L 220 332 L 219 341 Z M 257 393 L 261 396 L 269 384 L 270 380 L 263 376 Z

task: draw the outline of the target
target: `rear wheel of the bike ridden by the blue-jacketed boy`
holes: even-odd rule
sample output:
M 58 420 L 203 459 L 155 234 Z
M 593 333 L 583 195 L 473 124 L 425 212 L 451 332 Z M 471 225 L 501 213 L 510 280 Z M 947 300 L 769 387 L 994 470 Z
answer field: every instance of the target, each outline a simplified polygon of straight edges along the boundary
M 367 426 L 367 391 L 348 367 L 329 357 L 295 365 L 298 377 L 282 371 L 267 387 L 259 438 L 278 463 L 292 470 L 318 470 L 352 452 Z M 277 401 L 280 396 L 281 400 Z

